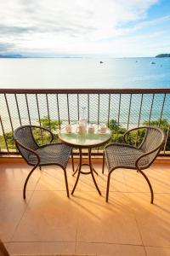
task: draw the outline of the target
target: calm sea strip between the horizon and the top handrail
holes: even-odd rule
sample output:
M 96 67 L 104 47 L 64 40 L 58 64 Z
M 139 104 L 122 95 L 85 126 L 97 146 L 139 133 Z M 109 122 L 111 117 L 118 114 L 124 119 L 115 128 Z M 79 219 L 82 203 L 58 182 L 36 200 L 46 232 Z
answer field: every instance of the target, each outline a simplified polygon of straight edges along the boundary
M 167 87 L 170 58 L 0 59 L 0 88 Z

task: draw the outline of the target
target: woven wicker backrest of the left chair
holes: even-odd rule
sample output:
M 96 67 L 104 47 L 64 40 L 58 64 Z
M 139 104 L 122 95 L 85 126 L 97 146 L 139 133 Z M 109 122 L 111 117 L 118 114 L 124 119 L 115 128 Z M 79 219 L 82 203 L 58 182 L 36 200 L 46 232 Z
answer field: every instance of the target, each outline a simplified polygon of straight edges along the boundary
M 14 130 L 14 142 L 16 143 L 17 148 L 20 151 L 20 154 L 28 160 L 30 151 L 26 150 L 26 148 L 31 150 L 37 150 L 38 145 L 33 137 L 31 125 L 20 126 L 19 128 Z

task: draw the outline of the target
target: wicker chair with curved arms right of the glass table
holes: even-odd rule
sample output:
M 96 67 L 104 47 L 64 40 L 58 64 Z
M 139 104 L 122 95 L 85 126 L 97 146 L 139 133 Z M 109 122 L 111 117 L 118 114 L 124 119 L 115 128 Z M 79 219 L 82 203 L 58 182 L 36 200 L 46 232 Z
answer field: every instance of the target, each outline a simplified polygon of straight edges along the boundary
M 129 135 L 131 131 L 139 132 L 139 129 L 145 130 L 144 139 L 139 147 L 137 148 L 127 144 L 127 135 Z M 104 173 L 105 158 L 109 171 L 107 178 L 106 202 L 108 202 L 109 198 L 111 173 L 117 168 L 125 168 L 137 170 L 137 172 L 143 175 L 150 187 L 150 203 L 153 204 L 153 189 L 149 178 L 142 172 L 142 170 L 150 167 L 156 159 L 157 154 L 159 154 L 161 146 L 165 141 L 164 132 L 155 126 L 141 126 L 127 131 L 124 134 L 123 139 L 124 143 L 110 143 L 105 146 L 102 172 Z

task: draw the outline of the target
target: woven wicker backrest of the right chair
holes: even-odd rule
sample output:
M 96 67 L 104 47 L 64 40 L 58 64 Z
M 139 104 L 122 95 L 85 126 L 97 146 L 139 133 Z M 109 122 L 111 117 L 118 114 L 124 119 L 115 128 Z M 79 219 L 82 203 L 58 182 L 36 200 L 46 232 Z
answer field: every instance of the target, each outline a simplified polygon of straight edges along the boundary
M 139 148 L 144 153 L 155 150 L 155 154 L 157 155 L 161 149 L 162 144 L 164 143 L 165 134 L 163 131 L 161 131 L 161 129 L 155 126 L 145 126 L 144 128 L 146 128 L 146 133 L 144 141 Z

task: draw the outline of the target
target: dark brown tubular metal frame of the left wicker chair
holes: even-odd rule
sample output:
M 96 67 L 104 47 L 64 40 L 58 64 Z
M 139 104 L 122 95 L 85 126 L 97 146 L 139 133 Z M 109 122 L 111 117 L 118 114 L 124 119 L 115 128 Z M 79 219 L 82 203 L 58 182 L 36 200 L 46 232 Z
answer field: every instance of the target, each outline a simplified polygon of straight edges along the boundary
M 53 135 L 52 131 L 48 130 L 47 128 L 43 128 L 42 126 L 37 126 L 37 125 L 22 125 L 22 126 L 20 126 L 20 127 L 18 127 L 17 129 L 14 130 L 14 143 L 15 143 L 15 145 L 16 145 L 16 148 L 18 148 L 18 150 L 19 150 L 20 154 L 22 155 L 22 157 L 24 158 L 24 160 L 26 160 L 26 163 L 27 163 L 29 166 L 33 166 L 33 168 L 31 169 L 31 172 L 29 172 L 28 176 L 26 177 L 26 181 L 25 181 L 25 183 L 24 183 L 23 198 L 26 199 L 26 185 L 27 185 L 27 183 L 28 183 L 29 178 L 31 177 L 32 172 L 34 172 L 37 167 L 39 167 L 40 170 L 42 170 L 42 168 L 41 168 L 42 166 L 59 166 L 59 167 L 62 168 L 62 170 L 64 171 L 64 174 L 65 174 L 65 187 L 66 187 L 67 197 L 70 197 L 70 195 L 69 195 L 69 186 L 68 186 L 68 181 L 67 181 L 67 176 L 66 176 L 66 169 L 65 169 L 63 166 L 59 165 L 59 164 L 51 164 L 51 163 L 49 163 L 49 164 L 40 164 L 41 158 L 40 158 L 40 156 L 37 154 L 37 152 L 34 151 L 34 150 L 32 150 L 31 148 L 27 148 L 25 145 L 23 145 L 22 143 L 20 143 L 19 140 L 17 139 L 17 136 L 16 136 L 17 131 L 19 131 L 19 130 L 25 128 L 25 127 L 31 128 L 31 129 L 30 129 L 30 130 L 31 130 L 31 135 L 32 135 L 33 140 L 34 140 L 34 142 L 36 143 L 36 145 L 37 145 L 38 148 L 43 148 L 43 147 L 46 147 L 46 146 L 48 146 L 48 145 L 51 145 L 51 144 L 53 144 L 52 142 L 53 142 L 53 140 L 54 140 L 54 135 Z M 49 134 L 51 135 L 51 140 L 50 140 L 50 142 L 47 143 L 47 144 L 43 144 L 42 146 L 39 146 L 39 145 L 37 144 L 37 142 L 36 142 L 34 136 L 33 136 L 32 128 L 40 129 L 41 132 L 42 132 L 42 130 L 43 130 L 43 131 L 48 131 Z M 61 144 L 61 143 L 54 143 L 54 144 L 57 145 L 57 144 Z M 35 164 L 35 165 L 31 164 L 31 163 L 26 159 L 26 157 L 21 153 L 20 148 L 19 148 L 18 146 L 20 146 L 21 148 L 26 149 L 26 150 L 29 151 L 31 154 L 35 154 L 35 155 L 37 156 L 37 164 Z M 71 162 L 72 162 L 72 170 L 73 170 L 73 172 L 74 172 L 74 159 L 73 159 L 73 152 L 72 152 L 72 149 L 71 149 Z

